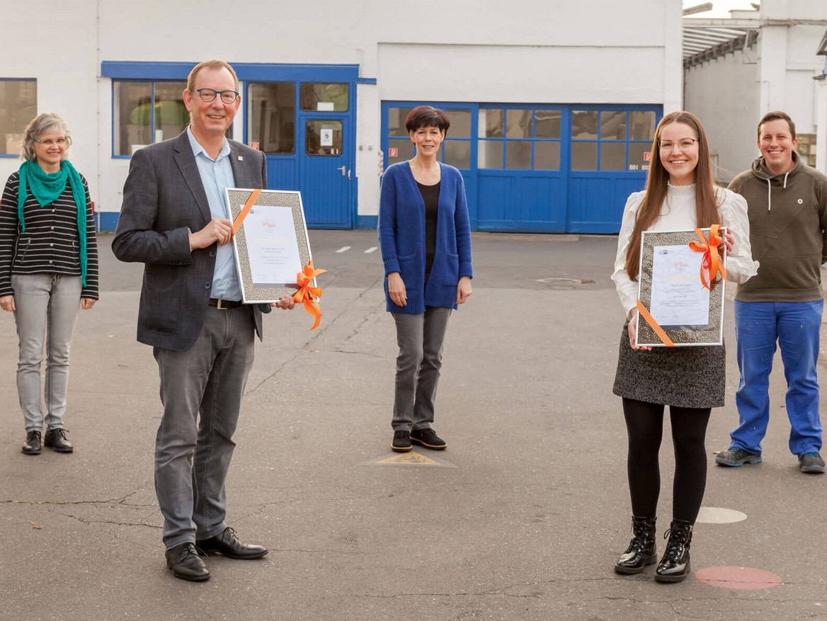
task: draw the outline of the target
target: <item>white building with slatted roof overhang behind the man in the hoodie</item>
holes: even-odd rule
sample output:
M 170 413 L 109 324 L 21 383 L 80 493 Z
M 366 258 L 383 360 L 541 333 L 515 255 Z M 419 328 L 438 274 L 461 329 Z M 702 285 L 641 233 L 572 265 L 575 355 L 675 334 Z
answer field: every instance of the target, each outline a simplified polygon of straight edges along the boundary
M 758 121 L 782 110 L 805 162 L 827 171 L 825 0 L 762 0 L 729 19 L 683 20 L 685 106 L 704 122 L 727 183 L 759 155 Z

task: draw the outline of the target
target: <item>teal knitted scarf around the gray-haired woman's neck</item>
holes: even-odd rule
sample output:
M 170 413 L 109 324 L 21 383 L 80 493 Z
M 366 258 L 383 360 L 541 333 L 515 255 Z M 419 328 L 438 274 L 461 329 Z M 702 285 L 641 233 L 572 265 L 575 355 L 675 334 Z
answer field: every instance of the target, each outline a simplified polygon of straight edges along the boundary
M 66 182 L 72 187 L 72 198 L 78 206 L 78 236 L 80 238 L 80 281 L 86 286 L 86 190 L 80 174 L 68 160 L 60 162 L 60 170 L 56 173 L 46 173 L 41 166 L 32 160 L 26 160 L 20 165 L 20 185 L 17 187 L 17 218 L 20 220 L 22 231 L 26 231 L 26 222 L 23 221 L 23 203 L 26 203 L 26 187 L 31 189 L 32 196 L 41 204 L 41 207 L 54 203 L 66 189 Z

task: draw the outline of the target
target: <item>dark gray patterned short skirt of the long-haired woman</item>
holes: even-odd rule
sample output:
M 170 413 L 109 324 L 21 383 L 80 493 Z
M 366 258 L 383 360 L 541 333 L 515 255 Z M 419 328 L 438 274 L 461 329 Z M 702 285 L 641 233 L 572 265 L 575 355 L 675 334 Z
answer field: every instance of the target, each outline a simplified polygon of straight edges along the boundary
M 612 392 L 652 404 L 720 408 L 724 405 L 725 371 L 723 345 L 634 351 L 629 345 L 629 322 L 626 322 L 620 334 L 618 370 Z

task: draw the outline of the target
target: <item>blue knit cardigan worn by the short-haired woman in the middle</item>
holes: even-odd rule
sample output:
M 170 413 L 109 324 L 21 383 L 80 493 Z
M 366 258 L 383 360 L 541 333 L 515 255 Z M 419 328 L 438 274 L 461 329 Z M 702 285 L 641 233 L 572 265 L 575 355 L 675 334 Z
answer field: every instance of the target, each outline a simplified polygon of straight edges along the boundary
M 382 177 L 379 243 L 385 263 L 385 299 L 390 313 L 424 313 L 426 306 L 457 308 L 457 283 L 471 270 L 471 225 L 460 171 L 439 164 L 437 247 L 425 287 L 425 203 L 407 161 L 390 165 Z M 399 272 L 408 305 L 388 294 L 388 275 Z

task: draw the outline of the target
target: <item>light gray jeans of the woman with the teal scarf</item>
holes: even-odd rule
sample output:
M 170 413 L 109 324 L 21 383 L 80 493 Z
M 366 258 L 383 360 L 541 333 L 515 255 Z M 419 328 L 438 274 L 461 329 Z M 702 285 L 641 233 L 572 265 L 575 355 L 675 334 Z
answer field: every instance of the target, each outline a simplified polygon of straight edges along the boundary
M 41 363 L 45 341 L 45 423 L 63 427 L 69 386 L 69 348 L 80 308 L 80 276 L 12 274 L 19 342 L 17 395 L 26 432 L 42 431 Z

